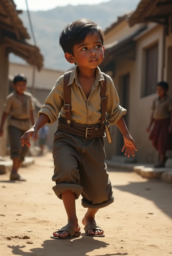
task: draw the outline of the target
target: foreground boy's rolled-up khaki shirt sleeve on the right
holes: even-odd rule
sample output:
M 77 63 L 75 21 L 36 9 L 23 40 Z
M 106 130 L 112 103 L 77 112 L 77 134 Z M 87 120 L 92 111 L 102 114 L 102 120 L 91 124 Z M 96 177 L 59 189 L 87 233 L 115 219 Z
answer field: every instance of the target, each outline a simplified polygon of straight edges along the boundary
M 112 79 L 110 79 L 109 85 L 107 85 L 106 98 L 106 120 L 113 125 L 116 124 L 127 111 L 120 106 L 120 100 Z

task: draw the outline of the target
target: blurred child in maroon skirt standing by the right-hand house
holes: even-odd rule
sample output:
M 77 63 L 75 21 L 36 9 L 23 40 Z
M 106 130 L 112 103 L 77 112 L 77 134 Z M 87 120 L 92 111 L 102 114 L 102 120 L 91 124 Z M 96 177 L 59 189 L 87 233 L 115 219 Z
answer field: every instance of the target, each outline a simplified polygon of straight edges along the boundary
M 172 150 L 172 99 L 167 94 L 168 83 L 159 82 L 157 84 L 157 95 L 152 105 L 152 116 L 147 132 L 154 123 L 154 128 L 150 133 L 149 140 L 159 152 L 160 161 L 155 167 L 165 167 L 167 161 L 166 152 Z

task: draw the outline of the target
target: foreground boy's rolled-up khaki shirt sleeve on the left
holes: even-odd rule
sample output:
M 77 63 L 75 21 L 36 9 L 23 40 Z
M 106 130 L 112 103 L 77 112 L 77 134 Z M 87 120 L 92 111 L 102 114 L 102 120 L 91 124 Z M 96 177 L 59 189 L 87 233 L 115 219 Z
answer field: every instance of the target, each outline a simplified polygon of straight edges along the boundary
M 63 85 L 60 78 L 57 80 L 55 86 L 47 97 L 44 106 L 38 112 L 38 116 L 43 113 L 49 117 L 48 124 L 53 124 L 57 121 L 58 114 L 60 113 L 64 104 Z

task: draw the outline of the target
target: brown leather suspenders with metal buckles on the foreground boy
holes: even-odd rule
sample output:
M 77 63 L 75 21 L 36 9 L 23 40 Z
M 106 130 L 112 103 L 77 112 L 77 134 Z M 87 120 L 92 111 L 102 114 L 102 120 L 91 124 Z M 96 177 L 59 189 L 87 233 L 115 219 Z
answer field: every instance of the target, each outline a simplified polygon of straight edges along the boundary
M 63 84 L 64 84 L 64 111 L 65 111 L 65 118 L 66 118 L 66 123 L 70 126 L 72 123 L 71 119 L 71 86 L 68 86 L 69 79 L 70 79 L 70 73 L 66 72 L 63 77 Z M 101 96 L 101 109 L 102 109 L 102 119 L 101 119 L 101 127 L 104 129 L 104 123 L 106 120 L 106 75 L 102 73 L 104 77 L 103 84 L 100 89 L 100 96 Z

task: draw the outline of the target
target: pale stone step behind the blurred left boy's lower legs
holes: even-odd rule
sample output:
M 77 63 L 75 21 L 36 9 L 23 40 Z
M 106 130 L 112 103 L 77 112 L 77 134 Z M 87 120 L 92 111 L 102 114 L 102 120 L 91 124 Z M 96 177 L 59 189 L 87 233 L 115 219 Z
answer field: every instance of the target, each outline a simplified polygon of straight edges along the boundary
M 25 161 L 22 164 L 22 167 L 28 167 L 34 164 L 35 158 L 34 157 L 25 157 Z M 8 173 L 12 170 L 13 161 L 9 157 L 4 157 L 3 161 L 0 161 L 0 174 Z

